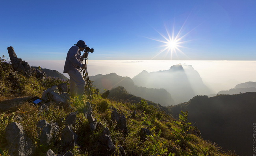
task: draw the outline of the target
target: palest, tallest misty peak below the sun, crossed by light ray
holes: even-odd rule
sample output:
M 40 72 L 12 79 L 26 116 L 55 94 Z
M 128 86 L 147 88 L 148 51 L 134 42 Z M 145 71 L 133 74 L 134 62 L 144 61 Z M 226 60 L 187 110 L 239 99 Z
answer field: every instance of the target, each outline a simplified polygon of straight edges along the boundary
M 176 104 L 187 102 L 196 95 L 212 93 L 191 65 L 177 64 L 171 66 L 169 70 L 150 73 L 144 70 L 132 80 L 138 86 L 166 89 Z

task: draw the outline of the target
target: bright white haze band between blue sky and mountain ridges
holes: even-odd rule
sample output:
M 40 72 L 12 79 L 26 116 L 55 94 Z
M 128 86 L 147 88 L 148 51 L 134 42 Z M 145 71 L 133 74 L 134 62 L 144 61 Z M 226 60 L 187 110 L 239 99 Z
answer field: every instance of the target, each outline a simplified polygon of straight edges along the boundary
M 31 66 L 59 71 L 63 73 L 65 60 L 57 61 L 28 61 Z M 192 65 L 200 74 L 205 85 L 215 93 L 234 88 L 239 83 L 256 82 L 256 61 L 229 61 L 229 60 L 89 60 L 87 64 L 89 76 L 96 74 L 116 73 L 120 76 L 133 78 L 141 71 L 147 72 L 168 70 L 175 64 Z

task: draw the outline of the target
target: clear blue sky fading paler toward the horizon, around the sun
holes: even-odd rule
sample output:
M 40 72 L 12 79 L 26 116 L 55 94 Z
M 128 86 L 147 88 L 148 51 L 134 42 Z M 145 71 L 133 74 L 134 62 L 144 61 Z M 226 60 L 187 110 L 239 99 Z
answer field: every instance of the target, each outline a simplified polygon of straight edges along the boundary
M 256 0 L 2 0 L 0 54 L 65 60 L 84 40 L 91 60 L 256 60 Z M 183 25 L 183 27 L 182 27 Z M 184 53 L 161 53 L 180 31 Z M 158 32 L 159 33 L 158 33 Z M 156 56 L 156 57 L 155 57 Z

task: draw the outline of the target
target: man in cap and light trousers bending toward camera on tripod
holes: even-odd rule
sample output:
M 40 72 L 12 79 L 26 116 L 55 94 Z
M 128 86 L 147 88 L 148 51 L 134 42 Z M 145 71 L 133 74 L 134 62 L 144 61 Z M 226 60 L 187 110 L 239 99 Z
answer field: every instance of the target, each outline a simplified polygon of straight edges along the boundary
M 84 56 L 81 56 L 81 51 L 84 51 L 85 47 L 87 47 L 85 42 L 79 40 L 67 53 L 63 73 L 68 73 L 70 76 L 70 94 L 72 98 L 79 96 L 82 99 L 85 93 L 85 80 L 79 70 L 80 68 L 86 68 L 86 65 L 82 63 Z

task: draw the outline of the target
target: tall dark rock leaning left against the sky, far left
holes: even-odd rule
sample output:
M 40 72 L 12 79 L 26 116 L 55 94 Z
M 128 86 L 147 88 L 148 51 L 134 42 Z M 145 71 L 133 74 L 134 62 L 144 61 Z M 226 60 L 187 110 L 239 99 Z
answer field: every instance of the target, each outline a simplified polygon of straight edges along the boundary
M 21 58 L 18 58 L 13 47 L 8 47 L 7 50 L 13 69 L 17 72 L 22 73 L 26 77 L 32 76 L 32 68 L 30 67 L 28 62 L 25 62 Z

